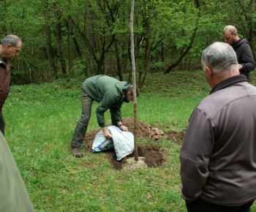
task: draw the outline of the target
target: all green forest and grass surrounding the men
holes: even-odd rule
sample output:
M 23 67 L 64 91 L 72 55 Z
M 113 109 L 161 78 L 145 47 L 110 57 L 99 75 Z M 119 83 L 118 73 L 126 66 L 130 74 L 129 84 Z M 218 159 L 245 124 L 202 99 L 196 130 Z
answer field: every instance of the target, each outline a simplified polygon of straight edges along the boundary
M 131 173 L 114 170 L 105 154 L 70 154 L 83 80 L 106 74 L 132 81 L 130 8 L 127 0 L 0 1 L 0 39 L 16 34 L 23 40 L 12 61 L 6 137 L 36 211 L 186 211 L 181 143 L 162 140 L 165 165 Z M 229 24 L 255 56 L 255 0 L 135 1 L 139 120 L 165 132 L 186 130 L 211 89 L 198 71 L 201 53 L 224 41 Z M 133 116 L 132 106 L 122 107 L 124 117 Z M 99 129 L 92 116 L 89 132 Z

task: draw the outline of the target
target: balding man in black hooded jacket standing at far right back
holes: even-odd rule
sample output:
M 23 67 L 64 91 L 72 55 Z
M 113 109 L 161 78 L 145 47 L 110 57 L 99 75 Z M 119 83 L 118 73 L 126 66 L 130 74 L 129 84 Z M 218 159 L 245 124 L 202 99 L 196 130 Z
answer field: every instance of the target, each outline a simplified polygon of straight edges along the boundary
M 236 52 L 239 72 L 246 75 L 247 79 L 250 80 L 250 72 L 255 69 L 255 59 L 249 42 L 244 37 L 238 37 L 235 26 L 225 26 L 222 34 L 225 42 L 231 45 Z

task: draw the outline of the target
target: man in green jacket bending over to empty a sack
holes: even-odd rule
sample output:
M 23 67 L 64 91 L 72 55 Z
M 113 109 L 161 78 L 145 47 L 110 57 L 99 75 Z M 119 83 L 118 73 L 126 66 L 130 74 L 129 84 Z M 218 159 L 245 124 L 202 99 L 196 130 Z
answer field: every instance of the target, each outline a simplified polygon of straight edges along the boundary
M 137 88 L 136 96 L 139 96 L 139 94 Z M 105 127 L 104 113 L 109 109 L 112 125 L 126 131 L 127 127 L 121 124 L 121 105 L 123 102 L 133 101 L 133 86 L 130 83 L 121 82 L 106 75 L 89 77 L 83 82 L 81 87 L 82 113 L 71 142 L 71 153 L 76 157 L 83 156 L 80 145 L 82 145 L 86 135 L 91 117 L 91 105 L 94 101 L 99 102 L 96 110 L 98 124 L 102 127 L 106 139 L 109 140 L 111 135 Z

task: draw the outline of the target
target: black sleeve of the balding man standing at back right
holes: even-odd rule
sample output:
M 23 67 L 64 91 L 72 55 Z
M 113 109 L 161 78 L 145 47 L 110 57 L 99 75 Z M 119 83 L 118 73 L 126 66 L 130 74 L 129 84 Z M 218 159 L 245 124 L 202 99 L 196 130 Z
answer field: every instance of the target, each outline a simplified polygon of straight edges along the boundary
M 252 72 L 255 69 L 255 59 L 249 44 L 244 44 L 238 56 L 238 63 L 242 65 L 240 72 Z

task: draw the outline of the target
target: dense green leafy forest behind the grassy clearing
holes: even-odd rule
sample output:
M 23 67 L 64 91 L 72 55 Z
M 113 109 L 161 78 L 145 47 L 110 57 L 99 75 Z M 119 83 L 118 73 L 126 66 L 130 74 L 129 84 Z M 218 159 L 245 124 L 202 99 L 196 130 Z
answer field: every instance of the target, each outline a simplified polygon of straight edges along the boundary
M 105 74 L 132 80 L 131 1 L 1 0 L 0 37 L 23 40 L 12 61 L 12 85 Z M 234 25 L 255 56 L 255 0 L 136 0 L 138 86 L 148 73 L 200 68 L 200 55 Z M 125 77 L 124 77 L 125 76 Z

